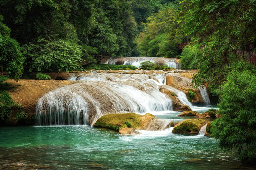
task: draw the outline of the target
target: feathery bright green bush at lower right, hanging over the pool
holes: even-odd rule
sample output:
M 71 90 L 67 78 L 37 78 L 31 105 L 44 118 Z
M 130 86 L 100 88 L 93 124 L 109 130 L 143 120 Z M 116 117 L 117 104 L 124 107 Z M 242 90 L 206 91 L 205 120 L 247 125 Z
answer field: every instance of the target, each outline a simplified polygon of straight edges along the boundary
M 234 70 L 220 86 L 219 113 L 212 123 L 212 137 L 221 148 L 236 149 L 240 159 L 256 153 L 256 70 Z

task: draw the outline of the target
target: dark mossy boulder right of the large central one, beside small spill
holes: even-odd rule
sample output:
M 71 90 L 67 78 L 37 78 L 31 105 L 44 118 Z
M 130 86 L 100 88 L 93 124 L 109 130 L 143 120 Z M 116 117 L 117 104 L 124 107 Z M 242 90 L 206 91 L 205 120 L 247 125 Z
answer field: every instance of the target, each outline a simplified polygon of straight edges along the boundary
M 207 122 L 202 119 L 186 119 L 175 125 L 172 133 L 198 134 L 205 123 Z

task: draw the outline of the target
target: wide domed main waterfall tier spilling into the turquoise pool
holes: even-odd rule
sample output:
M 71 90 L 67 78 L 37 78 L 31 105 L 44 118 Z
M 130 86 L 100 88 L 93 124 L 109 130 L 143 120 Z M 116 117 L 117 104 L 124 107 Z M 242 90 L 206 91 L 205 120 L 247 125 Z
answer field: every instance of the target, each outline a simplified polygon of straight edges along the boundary
M 147 82 L 81 81 L 46 93 L 37 102 L 37 125 L 92 124 L 109 113 L 171 111 L 172 100 Z

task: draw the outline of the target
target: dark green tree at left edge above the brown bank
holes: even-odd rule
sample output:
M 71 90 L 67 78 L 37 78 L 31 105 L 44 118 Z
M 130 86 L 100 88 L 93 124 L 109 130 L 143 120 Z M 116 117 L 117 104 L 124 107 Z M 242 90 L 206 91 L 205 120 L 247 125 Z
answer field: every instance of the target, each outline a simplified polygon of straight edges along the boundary
M 18 42 L 10 38 L 10 29 L 3 24 L 0 15 L 0 68 L 6 69 L 9 76 L 18 81 L 22 75 L 24 58 Z

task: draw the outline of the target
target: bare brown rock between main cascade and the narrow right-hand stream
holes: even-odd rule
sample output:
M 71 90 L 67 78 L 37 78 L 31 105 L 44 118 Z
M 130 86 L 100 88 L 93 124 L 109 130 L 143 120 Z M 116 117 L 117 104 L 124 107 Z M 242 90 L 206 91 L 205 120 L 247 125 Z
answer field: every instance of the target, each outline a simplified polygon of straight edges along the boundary
M 162 93 L 165 93 L 166 95 L 172 98 L 174 111 L 190 111 L 191 110 L 188 105 L 182 104 L 180 100 L 177 98 L 177 96 L 174 93 L 172 93 L 170 90 L 167 90 L 161 87 L 159 88 L 159 91 Z

